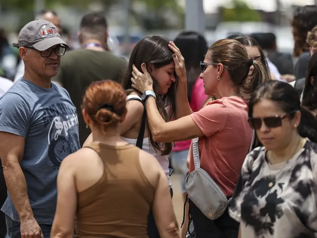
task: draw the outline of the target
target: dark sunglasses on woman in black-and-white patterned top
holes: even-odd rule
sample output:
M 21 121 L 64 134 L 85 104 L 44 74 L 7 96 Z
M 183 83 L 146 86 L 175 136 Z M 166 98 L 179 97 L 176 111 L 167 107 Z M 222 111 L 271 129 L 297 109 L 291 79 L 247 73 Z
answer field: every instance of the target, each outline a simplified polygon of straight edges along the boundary
M 294 110 L 291 113 L 285 114 L 284 116 L 277 116 L 276 115 L 276 116 L 268 116 L 268 117 L 264 117 L 264 118 L 249 117 L 248 122 L 249 122 L 250 126 L 255 130 L 258 130 L 262 127 L 262 121 L 265 123 L 265 125 L 268 128 L 276 128 L 276 127 L 280 127 L 282 125 L 282 120 L 284 118 L 287 118 L 296 112 L 297 112 L 297 110 Z

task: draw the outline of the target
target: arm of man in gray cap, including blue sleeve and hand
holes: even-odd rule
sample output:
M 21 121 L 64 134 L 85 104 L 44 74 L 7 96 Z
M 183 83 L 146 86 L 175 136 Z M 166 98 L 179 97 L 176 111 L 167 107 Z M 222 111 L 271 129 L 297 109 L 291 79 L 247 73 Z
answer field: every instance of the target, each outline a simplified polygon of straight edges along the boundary
M 34 218 L 20 166 L 30 117 L 29 105 L 22 96 L 8 92 L 0 99 L 0 157 L 4 179 L 20 216 L 22 237 L 39 238 L 42 231 Z

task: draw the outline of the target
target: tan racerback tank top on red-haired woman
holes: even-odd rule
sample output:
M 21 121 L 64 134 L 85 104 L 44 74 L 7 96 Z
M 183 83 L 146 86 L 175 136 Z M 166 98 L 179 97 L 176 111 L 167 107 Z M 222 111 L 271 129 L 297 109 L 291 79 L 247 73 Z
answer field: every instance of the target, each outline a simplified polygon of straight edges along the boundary
M 104 174 L 77 194 L 76 237 L 148 237 L 147 216 L 155 188 L 141 169 L 139 148 L 99 142 L 85 147 L 98 153 Z

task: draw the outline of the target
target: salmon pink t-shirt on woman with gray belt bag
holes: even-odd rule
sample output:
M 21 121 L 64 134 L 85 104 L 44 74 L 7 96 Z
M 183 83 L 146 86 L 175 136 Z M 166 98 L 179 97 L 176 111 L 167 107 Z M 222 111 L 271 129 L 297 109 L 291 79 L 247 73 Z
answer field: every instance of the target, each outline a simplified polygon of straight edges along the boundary
M 201 168 L 231 197 L 252 139 L 247 103 L 238 96 L 223 97 L 209 102 L 191 118 L 204 133 L 198 143 Z

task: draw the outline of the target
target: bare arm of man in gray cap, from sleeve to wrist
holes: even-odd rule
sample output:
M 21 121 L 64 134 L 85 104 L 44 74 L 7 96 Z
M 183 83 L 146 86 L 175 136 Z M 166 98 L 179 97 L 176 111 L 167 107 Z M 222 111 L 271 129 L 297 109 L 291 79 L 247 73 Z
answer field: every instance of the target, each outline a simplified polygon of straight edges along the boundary
M 8 132 L 0 132 L 0 157 L 3 175 L 13 204 L 21 220 L 33 218 L 26 181 L 20 162 L 25 138 Z

